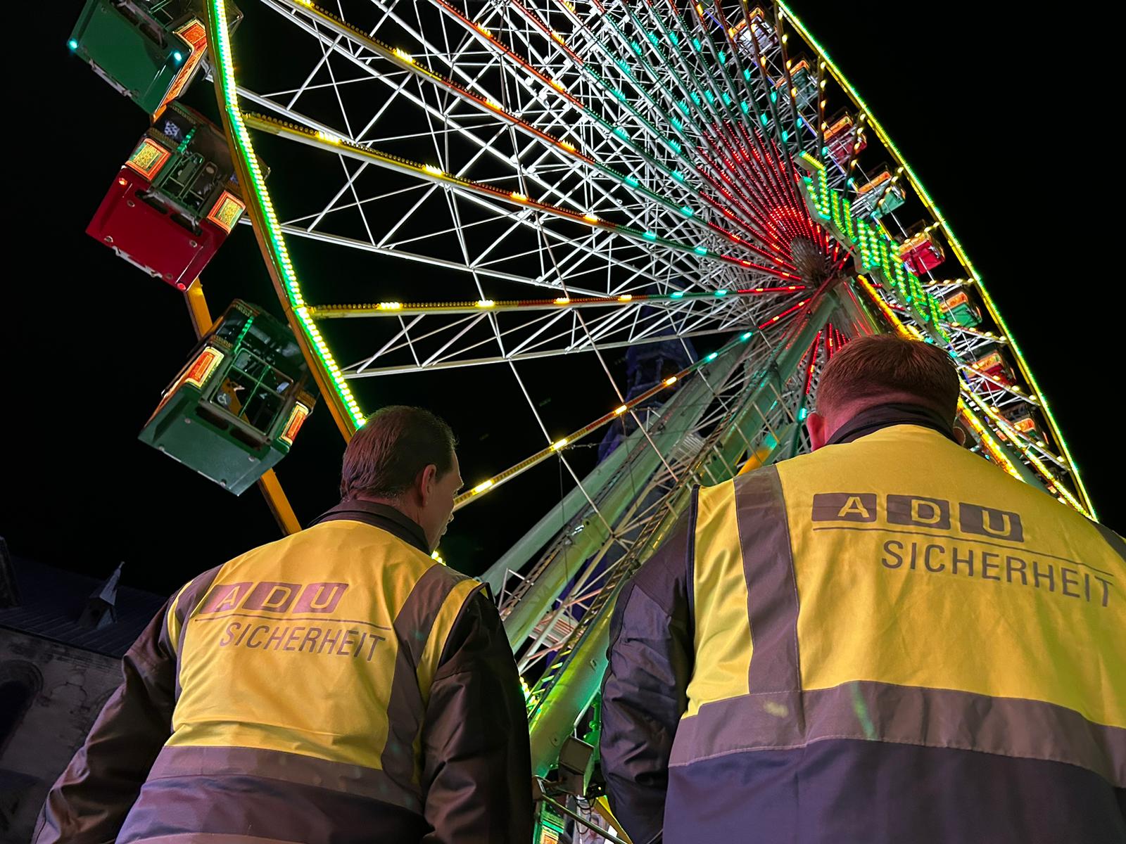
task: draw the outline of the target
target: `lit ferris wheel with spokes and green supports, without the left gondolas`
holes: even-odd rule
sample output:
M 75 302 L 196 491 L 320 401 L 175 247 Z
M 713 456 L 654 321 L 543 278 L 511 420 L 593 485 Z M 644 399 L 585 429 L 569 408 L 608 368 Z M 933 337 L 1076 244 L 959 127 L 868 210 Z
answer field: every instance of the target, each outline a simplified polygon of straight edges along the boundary
M 467 478 L 457 506 L 548 460 L 570 478 L 484 576 L 527 682 L 537 774 L 597 697 L 617 586 L 691 484 L 805 450 L 819 372 L 857 335 L 948 349 L 974 450 L 1094 515 L 986 281 L 786 5 L 100 5 L 159 11 L 187 45 L 146 110 L 186 65 L 211 75 L 231 200 L 341 432 L 383 379 L 502 371 L 527 405 L 504 424 L 526 420 L 542 445 Z M 176 278 L 189 294 L 197 271 Z M 610 365 L 620 350 L 634 375 Z M 562 380 L 580 361 L 610 401 L 561 431 L 526 367 Z M 600 440 L 596 468 L 575 468 L 572 449 Z

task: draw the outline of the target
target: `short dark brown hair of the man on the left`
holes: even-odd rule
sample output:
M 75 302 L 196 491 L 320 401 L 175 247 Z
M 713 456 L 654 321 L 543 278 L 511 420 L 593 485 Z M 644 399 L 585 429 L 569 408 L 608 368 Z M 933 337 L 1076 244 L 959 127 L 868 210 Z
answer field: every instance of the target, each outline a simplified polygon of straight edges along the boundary
M 454 466 L 457 440 L 428 410 L 391 405 L 367 417 L 345 449 L 340 497 L 396 499 L 427 466 L 443 477 Z

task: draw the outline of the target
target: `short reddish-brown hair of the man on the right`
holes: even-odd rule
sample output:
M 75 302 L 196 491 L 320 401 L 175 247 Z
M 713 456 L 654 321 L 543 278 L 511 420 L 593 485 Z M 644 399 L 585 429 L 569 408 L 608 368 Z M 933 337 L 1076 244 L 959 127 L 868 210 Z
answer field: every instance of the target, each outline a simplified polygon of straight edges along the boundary
M 817 407 L 835 413 L 884 402 L 914 402 L 954 419 L 958 370 L 950 356 L 930 343 L 895 334 L 857 338 L 837 352 L 821 374 Z

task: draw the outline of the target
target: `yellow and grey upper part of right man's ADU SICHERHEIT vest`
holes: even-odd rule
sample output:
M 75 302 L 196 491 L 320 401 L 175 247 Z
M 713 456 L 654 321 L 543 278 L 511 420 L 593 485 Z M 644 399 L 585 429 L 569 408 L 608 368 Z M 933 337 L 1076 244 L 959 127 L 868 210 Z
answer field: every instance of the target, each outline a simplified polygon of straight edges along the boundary
M 893 425 L 701 488 L 694 540 L 670 764 L 858 738 L 1126 787 L 1121 539 L 942 434 Z

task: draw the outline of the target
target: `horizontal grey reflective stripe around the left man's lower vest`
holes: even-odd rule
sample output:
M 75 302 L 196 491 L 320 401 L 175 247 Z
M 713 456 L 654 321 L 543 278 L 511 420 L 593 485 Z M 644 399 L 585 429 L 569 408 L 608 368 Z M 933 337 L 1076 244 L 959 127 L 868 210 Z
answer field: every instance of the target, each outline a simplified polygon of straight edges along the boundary
M 402 788 L 383 771 L 257 747 L 164 747 L 153 763 L 149 780 L 198 774 L 265 776 L 369 797 L 410 811 L 422 811 L 418 794 Z

